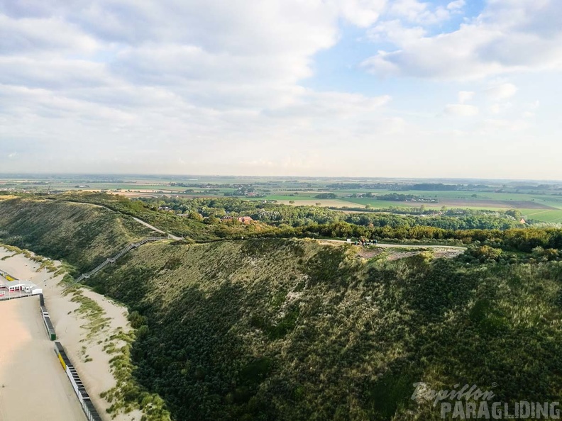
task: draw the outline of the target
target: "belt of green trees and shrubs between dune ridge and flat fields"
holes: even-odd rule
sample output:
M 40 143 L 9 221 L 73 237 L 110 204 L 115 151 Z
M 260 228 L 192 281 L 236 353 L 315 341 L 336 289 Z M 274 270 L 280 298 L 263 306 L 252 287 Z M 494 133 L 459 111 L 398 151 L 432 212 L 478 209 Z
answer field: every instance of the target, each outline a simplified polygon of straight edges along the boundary
M 457 240 L 481 242 L 490 247 L 531 252 L 536 247 L 562 249 L 562 230 L 556 228 L 516 228 L 518 215 L 472 212 L 465 215 L 416 216 L 383 213 L 346 214 L 314 206 L 282 206 L 235 198 L 177 199 L 167 202 L 183 206 L 186 216 L 158 211 L 156 201 L 130 201 L 112 195 L 64 196 L 90 201 L 115 211 L 138 216 L 173 234 L 196 241 L 258 237 L 365 237 L 396 240 Z M 225 213 L 249 215 L 259 223 L 227 225 L 219 216 Z

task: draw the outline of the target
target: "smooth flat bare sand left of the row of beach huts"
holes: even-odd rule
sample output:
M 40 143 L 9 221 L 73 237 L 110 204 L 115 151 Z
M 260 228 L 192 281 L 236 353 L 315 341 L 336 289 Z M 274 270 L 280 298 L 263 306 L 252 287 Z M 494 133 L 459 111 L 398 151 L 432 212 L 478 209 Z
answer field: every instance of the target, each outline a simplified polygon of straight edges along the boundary
M 1 302 L 0 318 L 0 421 L 85 421 L 47 337 L 39 298 Z

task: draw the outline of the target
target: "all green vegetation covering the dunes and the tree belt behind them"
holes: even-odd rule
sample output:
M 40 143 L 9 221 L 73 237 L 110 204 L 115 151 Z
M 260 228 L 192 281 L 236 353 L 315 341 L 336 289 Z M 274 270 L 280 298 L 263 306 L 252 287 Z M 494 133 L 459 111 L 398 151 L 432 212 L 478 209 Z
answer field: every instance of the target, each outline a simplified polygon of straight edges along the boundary
M 128 305 L 136 329 L 106 342 L 121 385 L 106 395 L 112 413 L 148 405 L 154 420 L 439 420 L 439 409 L 410 399 L 413 383 L 495 385 L 505 402 L 562 393 L 562 230 L 514 228 L 515 211 L 344 214 L 236 198 L 165 201 L 188 215 L 178 216 L 153 199 L 72 200 L 84 196 L 112 210 L 67 195 L 4 201 L 0 237 L 88 269 L 92 253 L 106 257 L 145 234 L 129 215 L 166 230 L 182 224 L 202 242 L 148 243 L 88 280 Z M 259 222 L 219 222 L 226 212 Z M 468 250 L 437 259 L 434 249 L 283 238 L 292 236 Z

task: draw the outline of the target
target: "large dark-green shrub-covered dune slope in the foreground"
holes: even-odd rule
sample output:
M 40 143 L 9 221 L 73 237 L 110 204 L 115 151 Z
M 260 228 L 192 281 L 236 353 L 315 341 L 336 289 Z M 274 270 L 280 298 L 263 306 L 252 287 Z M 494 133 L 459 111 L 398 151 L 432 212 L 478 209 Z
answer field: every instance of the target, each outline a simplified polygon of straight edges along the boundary
M 177 420 L 439 420 L 413 383 L 560 396 L 561 274 L 249 240 L 148 245 L 91 281 L 140 314 L 136 376 Z

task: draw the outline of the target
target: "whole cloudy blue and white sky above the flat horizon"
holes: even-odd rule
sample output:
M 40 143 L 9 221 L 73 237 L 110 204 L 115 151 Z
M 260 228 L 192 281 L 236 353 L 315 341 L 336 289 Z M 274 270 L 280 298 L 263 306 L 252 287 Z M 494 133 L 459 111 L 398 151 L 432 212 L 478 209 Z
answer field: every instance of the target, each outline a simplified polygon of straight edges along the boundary
M 0 0 L 0 172 L 562 179 L 560 0 Z

